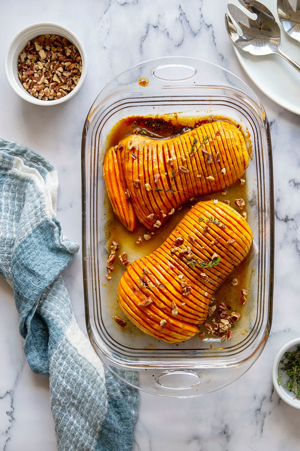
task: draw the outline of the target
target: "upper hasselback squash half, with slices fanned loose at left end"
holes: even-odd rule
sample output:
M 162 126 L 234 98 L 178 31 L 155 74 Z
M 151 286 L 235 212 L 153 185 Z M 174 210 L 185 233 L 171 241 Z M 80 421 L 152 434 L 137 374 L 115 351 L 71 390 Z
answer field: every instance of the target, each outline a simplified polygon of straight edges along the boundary
M 119 221 L 153 231 L 190 198 L 233 186 L 248 163 L 241 131 L 220 120 L 174 138 L 127 136 L 106 153 L 103 176 Z

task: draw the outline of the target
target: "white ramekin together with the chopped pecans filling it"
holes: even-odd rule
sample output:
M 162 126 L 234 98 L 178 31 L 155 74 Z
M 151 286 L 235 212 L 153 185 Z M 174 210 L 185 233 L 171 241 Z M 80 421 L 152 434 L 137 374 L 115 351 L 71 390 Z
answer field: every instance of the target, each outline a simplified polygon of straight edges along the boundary
M 34 23 L 10 42 L 4 70 L 20 97 L 37 105 L 56 105 L 81 88 L 86 74 L 85 50 L 62 25 Z

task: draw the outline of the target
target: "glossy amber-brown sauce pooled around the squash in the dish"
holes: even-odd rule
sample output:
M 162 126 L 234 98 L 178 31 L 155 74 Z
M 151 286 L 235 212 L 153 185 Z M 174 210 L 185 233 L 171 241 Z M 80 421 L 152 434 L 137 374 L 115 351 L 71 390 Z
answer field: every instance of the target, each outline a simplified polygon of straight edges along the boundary
M 214 116 L 210 117 L 179 117 L 176 114 L 172 115 L 163 115 L 163 116 L 130 116 L 126 117 L 112 128 L 111 132 L 107 136 L 107 150 L 118 144 L 123 138 L 133 133 L 138 133 L 144 136 L 148 136 L 150 138 L 172 138 L 177 135 L 180 135 L 190 129 L 194 129 L 202 124 L 207 124 L 212 122 L 212 120 L 225 120 L 232 124 L 234 124 L 238 129 L 240 129 L 240 124 L 235 123 L 233 120 Z M 247 141 L 247 131 L 241 130 L 245 139 L 246 145 L 248 149 L 248 153 L 250 156 L 249 162 L 251 163 L 251 143 L 249 140 Z M 107 251 L 108 254 L 110 245 L 112 240 L 116 241 L 120 245 L 120 249 L 118 253 L 126 252 L 128 259 L 130 262 L 133 262 L 137 258 L 144 257 L 145 255 L 153 252 L 157 249 L 163 241 L 170 235 L 172 230 L 176 227 L 176 225 L 181 221 L 182 217 L 186 212 L 197 202 L 201 200 L 207 199 L 218 199 L 219 202 L 224 202 L 224 200 L 229 200 L 231 202 L 231 207 L 236 209 L 239 213 L 242 214 L 243 211 L 247 212 L 247 205 L 243 207 L 243 210 L 238 209 L 235 204 L 235 199 L 246 199 L 246 187 L 247 187 L 247 171 L 243 175 L 243 179 L 245 179 L 245 184 L 241 185 L 239 181 L 231 188 L 227 188 L 227 195 L 223 196 L 220 192 L 213 193 L 206 196 L 201 196 L 201 198 L 194 198 L 193 201 L 188 201 L 182 207 L 179 207 L 179 211 L 176 211 L 174 215 L 171 216 L 170 220 L 163 226 L 160 230 L 157 230 L 152 238 L 148 241 L 143 239 L 141 244 L 136 244 L 136 241 L 139 237 L 143 238 L 143 235 L 147 232 L 147 229 L 142 224 L 139 224 L 137 229 L 130 233 L 128 232 L 124 226 L 116 219 L 116 216 L 112 210 L 110 202 L 107 197 L 106 209 L 107 209 L 107 224 L 105 227 L 106 235 L 107 235 Z M 247 299 L 245 305 L 240 304 L 240 299 L 242 297 L 242 289 L 249 290 L 251 285 L 251 278 L 253 276 L 252 270 L 249 268 L 249 262 L 251 259 L 251 251 L 248 253 L 245 260 L 238 265 L 233 272 L 231 272 L 225 281 L 219 286 L 219 288 L 215 292 L 215 305 L 218 306 L 221 302 L 223 302 L 227 308 L 228 317 L 234 312 L 237 311 L 241 314 L 241 320 L 233 325 L 232 331 L 235 335 L 236 333 L 242 334 L 243 336 L 248 333 L 247 330 L 247 321 L 246 317 L 249 312 L 249 308 L 247 308 L 247 304 L 253 304 L 254 300 Z M 107 286 L 109 288 L 109 305 L 108 307 L 111 310 L 112 318 L 114 315 L 123 318 L 127 321 L 128 326 L 123 329 L 124 333 L 130 333 L 132 337 L 140 337 L 141 334 L 145 335 L 144 332 L 140 331 L 136 326 L 134 326 L 128 318 L 125 317 L 124 313 L 121 311 L 121 308 L 118 305 L 117 301 L 117 285 L 120 280 L 122 272 L 125 270 L 125 267 L 121 265 L 119 262 L 119 258 L 117 257 L 114 262 L 115 271 L 111 273 L 112 280 L 111 281 L 103 281 L 103 286 Z M 238 285 L 233 286 L 233 279 L 237 279 Z M 215 312 L 207 318 L 206 323 L 212 324 L 212 320 L 219 322 L 219 314 L 217 313 L 217 309 Z M 240 325 L 242 327 L 240 327 Z M 119 327 L 116 325 L 116 327 Z M 218 339 L 216 336 L 208 336 L 206 328 L 204 325 L 199 326 L 199 331 L 205 332 L 205 338 L 210 339 Z M 195 337 L 188 340 L 194 341 Z M 199 338 L 197 338 L 198 346 Z M 194 341 L 195 343 L 195 341 Z M 173 345 L 174 346 L 174 345 Z M 223 347 L 223 343 L 221 344 Z

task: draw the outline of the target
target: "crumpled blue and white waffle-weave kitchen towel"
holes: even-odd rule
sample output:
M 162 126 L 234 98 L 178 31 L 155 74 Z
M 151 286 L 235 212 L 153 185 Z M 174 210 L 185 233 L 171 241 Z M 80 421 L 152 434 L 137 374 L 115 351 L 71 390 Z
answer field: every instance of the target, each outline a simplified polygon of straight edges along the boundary
M 75 321 L 60 272 L 78 245 L 56 219 L 57 189 L 48 161 L 0 139 L 0 273 L 27 361 L 49 376 L 58 450 L 130 451 L 139 394 L 103 367 Z

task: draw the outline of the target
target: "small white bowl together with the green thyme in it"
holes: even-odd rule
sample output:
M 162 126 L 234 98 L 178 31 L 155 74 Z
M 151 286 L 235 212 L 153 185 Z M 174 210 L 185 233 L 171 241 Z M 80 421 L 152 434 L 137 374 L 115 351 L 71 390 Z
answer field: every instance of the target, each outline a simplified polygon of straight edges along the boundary
M 278 351 L 272 379 L 278 395 L 287 404 L 300 409 L 300 338 L 289 341 Z

